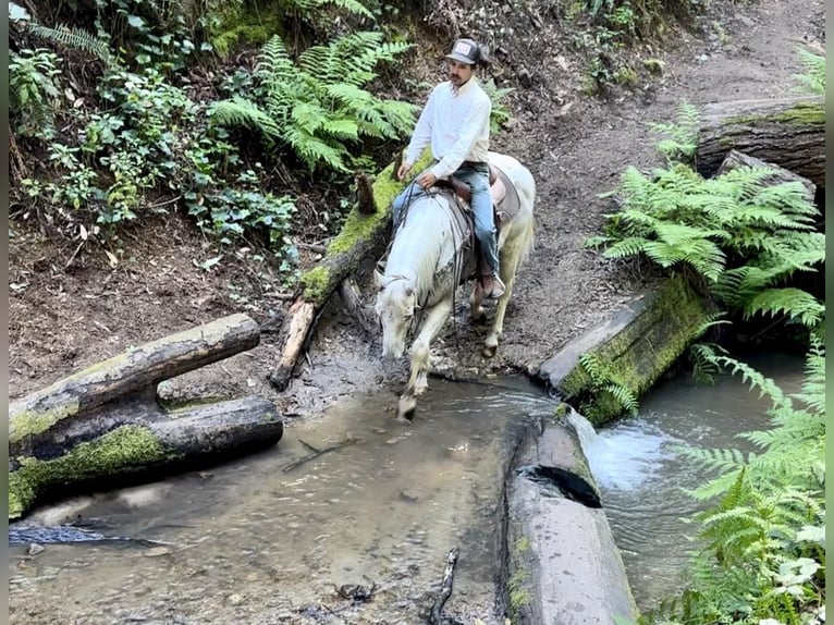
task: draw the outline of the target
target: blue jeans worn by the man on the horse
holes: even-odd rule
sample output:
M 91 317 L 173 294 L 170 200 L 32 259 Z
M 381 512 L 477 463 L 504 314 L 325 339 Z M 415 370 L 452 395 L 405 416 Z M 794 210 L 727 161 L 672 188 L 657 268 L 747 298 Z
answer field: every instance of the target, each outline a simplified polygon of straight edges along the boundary
M 487 259 L 490 269 L 498 275 L 498 242 L 495 241 L 495 223 L 492 215 L 492 194 L 489 191 L 489 166 L 486 163 L 476 166 L 465 163 L 453 175 L 468 184 L 473 192 L 469 206 L 475 219 L 475 237 L 480 244 L 481 254 Z M 400 224 L 405 208 L 417 198 L 426 195 L 428 195 L 426 189 L 415 180 L 394 198 L 394 201 L 391 203 L 394 230 Z

